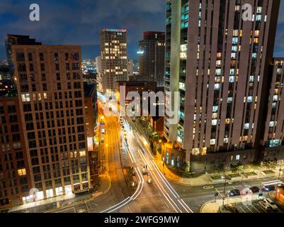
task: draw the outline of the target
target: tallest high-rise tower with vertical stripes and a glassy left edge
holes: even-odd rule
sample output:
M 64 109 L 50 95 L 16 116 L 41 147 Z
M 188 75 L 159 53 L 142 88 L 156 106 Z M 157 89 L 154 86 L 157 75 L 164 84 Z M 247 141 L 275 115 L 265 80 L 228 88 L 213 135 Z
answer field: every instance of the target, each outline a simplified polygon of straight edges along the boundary
M 249 21 L 242 19 L 244 3 L 252 7 Z M 183 150 L 174 153 L 178 157 L 171 164 L 180 164 L 180 156 L 190 162 L 191 156 L 221 151 L 251 149 L 254 155 L 265 121 L 263 91 L 273 63 L 279 4 L 166 1 L 165 89 L 180 92 L 181 109 L 177 124 L 165 118 L 164 135 Z M 248 159 L 240 154 L 229 159 Z

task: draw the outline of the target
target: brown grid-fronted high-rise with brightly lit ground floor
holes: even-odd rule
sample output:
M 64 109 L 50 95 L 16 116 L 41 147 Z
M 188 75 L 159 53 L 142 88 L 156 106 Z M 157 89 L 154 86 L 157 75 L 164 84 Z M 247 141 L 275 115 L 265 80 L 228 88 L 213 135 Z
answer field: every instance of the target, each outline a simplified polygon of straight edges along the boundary
M 11 60 L 33 199 L 88 190 L 81 48 L 12 44 Z

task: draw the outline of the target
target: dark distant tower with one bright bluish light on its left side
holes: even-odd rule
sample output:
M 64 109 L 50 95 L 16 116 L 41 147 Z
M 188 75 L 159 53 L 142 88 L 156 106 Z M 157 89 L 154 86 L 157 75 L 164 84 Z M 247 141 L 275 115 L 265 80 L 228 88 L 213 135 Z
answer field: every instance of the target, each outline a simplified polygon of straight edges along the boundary
M 165 33 L 145 32 L 138 54 L 142 80 L 155 81 L 158 87 L 164 87 Z

